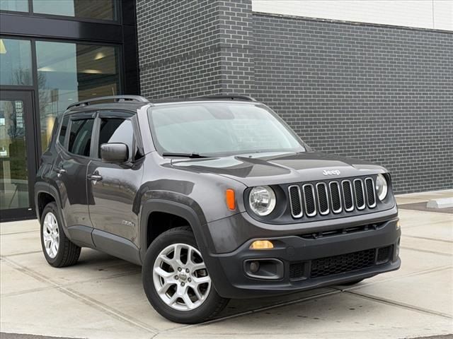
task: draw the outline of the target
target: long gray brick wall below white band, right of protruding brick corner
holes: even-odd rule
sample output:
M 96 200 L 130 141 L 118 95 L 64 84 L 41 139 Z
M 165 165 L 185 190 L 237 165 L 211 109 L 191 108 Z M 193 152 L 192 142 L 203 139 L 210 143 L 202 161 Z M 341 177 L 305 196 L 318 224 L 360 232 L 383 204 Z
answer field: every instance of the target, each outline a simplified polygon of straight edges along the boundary
M 253 16 L 254 95 L 316 150 L 453 188 L 453 33 Z

